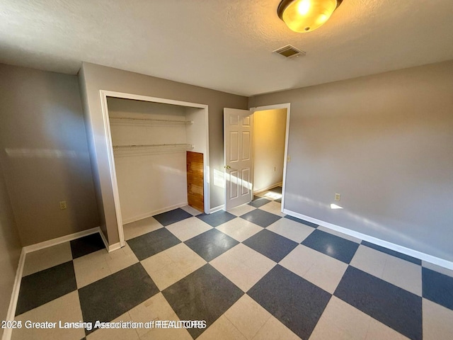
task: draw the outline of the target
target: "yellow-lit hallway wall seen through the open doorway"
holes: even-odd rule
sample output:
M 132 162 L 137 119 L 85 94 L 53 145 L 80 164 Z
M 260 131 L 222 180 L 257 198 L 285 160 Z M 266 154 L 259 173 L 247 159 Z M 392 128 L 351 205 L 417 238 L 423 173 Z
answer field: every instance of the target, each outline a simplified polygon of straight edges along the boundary
M 282 183 L 286 108 L 253 113 L 253 191 Z

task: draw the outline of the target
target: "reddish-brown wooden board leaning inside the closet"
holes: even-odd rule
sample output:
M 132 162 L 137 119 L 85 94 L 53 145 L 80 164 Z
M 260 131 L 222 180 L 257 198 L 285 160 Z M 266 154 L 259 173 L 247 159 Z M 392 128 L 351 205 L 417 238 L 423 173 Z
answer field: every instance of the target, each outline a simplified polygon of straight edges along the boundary
M 187 152 L 187 199 L 188 204 L 205 212 L 205 195 L 203 187 L 203 154 Z

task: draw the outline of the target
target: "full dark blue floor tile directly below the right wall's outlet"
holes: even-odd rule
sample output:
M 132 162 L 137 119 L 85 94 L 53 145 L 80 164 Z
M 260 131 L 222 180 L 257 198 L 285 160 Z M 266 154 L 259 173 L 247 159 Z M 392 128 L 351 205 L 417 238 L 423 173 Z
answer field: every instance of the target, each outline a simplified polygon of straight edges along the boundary
M 319 229 L 309 234 L 302 244 L 345 263 L 350 263 L 359 247 L 355 242 Z

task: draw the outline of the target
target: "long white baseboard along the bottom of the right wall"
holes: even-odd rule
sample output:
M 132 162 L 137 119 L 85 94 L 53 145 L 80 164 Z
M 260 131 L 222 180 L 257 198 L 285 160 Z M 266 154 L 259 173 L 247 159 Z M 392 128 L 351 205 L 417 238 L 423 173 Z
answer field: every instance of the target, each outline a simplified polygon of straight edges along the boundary
M 421 251 L 406 248 L 405 246 L 400 246 L 398 244 L 387 242 L 387 241 L 384 241 L 383 239 L 378 239 L 377 237 L 372 237 L 367 234 L 362 234 L 361 232 L 356 232 L 355 230 L 351 230 L 351 229 L 348 229 L 345 227 L 340 227 L 339 225 L 333 225 L 332 223 L 318 220 L 316 218 L 309 217 L 306 215 L 302 215 L 302 214 L 299 214 L 298 212 L 283 209 L 283 213 L 285 213 L 289 216 L 300 218 L 302 220 L 306 220 L 308 222 L 312 222 L 316 225 L 322 225 L 323 227 L 326 227 L 326 228 L 332 229 L 332 230 L 336 230 L 337 232 L 343 232 L 343 234 L 347 234 L 347 235 L 355 237 L 357 239 L 363 239 L 364 241 L 367 241 L 372 244 L 377 244 L 378 246 L 383 246 L 384 248 L 387 248 L 387 249 L 398 251 L 401 254 L 406 254 L 408 256 L 415 257 L 416 259 L 420 259 L 420 260 L 423 260 L 426 262 L 436 264 L 437 266 L 441 266 L 441 267 L 453 270 L 453 262 L 451 262 L 451 261 L 447 261 L 445 259 L 440 259 L 439 257 L 422 253 Z

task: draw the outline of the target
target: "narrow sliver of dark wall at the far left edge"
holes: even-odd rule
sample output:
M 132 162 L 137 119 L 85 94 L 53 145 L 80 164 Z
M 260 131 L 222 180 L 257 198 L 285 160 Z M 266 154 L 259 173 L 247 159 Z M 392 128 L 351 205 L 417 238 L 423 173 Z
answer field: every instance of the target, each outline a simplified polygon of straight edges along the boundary
M 6 319 L 21 249 L 16 221 L 0 166 L 0 320 Z M 0 337 L 2 334 L 3 329 L 0 329 Z

